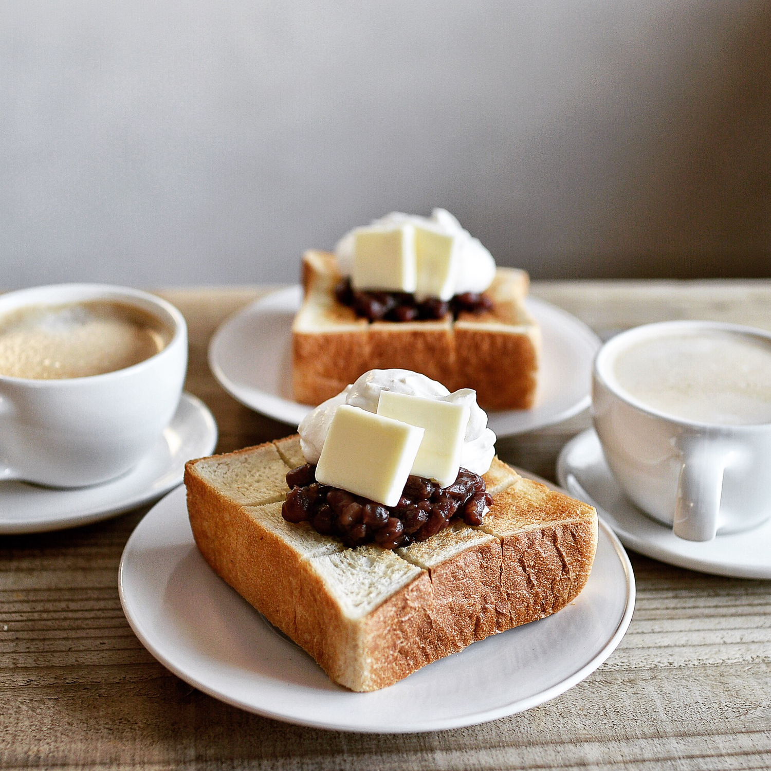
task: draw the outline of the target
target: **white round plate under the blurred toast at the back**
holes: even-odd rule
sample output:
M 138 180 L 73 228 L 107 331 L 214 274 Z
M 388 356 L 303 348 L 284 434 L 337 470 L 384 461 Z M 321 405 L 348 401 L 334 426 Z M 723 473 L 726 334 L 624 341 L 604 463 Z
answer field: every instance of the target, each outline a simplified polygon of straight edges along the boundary
M 224 322 L 209 345 L 209 365 L 222 387 L 247 407 L 297 426 L 312 409 L 291 398 L 291 323 L 299 286 L 271 292 Z M 601 342 L 561 308 L 528 298 L 543 333 L 540 383 L 533 409 L 490 412 L 498 436 L 561 423 L 589 406 L 591 364 Z

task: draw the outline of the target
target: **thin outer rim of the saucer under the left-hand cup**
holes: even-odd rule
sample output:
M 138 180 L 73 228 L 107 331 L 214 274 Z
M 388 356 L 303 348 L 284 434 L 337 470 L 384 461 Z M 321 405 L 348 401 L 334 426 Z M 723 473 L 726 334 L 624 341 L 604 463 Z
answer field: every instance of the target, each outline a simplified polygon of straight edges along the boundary
M 186 399 L 192 406 L 197 409 L 198 414 L 207 424 L 209 429 L 210 441 L 206 443 L 204 455 L 210 454 L 217 446 L 217 439 L 219 435 L 219 429 L 217 428 L 217 421 L 214 419 L 211 410 L 207 407 L 206 403 L 199 399 L 194 394 L 183 391 L 180 395 L 180 404 L 183 399 Z M 177 404 L 179 409 L 180 404 Z M 176 414 L 176 411 L 175 411 Z M 173 422 L 173 419 L 172 419 Z M 171 425 L 171 424 L 169 424 Z M 131 473 L 130 471 L 128 472 Z M 96 506 L 86 510 L 85 513 L 81 510 L 77 514 L 72 514 L 69 517 L 62 517 L 60 520 L 38 520 L 33 523 L 19 522 L 18 524 L 7 523 L 0 521 L 0 535 L 28 535 L 34 533 L 55 533 L 57 530 L 69 530 L 72 527 L 82 527 L 84 525 L 95 524 L 102 522 L 103 520 L 112 519 L 119 514 L 126 513 L 132 509 L 136 509 L 140 506 L 144 506 L 146 503 L 150 503 L 153 500 L 160 500 L 165 497 L 170 491 L 173 491 L 176 487 L 180 486 L 184 476 L 184 470 L 182 470 L 177 476 L 174 477 L 169 483 L 165 484 L 160 490 L 142 490 L 139 493 L 133 495 L 133 497 L 127 497 L 120 500 L 120 503 L 109 503 L 106 507 Z M 120 477 L 119 477 L 120 479 Z M 103 483 L 109 485 L 109 481 Z M 96 486 L 101 487 L 101 486 Z M 77 491 L 82 488 L 73 488 Z M 72 490 L 62 490 L 62 493 L 72 492 Z

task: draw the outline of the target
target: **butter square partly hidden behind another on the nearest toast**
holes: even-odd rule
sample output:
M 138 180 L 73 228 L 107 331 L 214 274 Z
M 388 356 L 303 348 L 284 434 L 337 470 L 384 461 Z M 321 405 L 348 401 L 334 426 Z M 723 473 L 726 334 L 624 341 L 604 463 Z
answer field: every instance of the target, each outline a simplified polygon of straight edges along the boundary
M 411 473 L 425 476 L 440 487 L 456 480 L 471 415 L 466 405 L 381 391 L 378 415 L 425 429 Z

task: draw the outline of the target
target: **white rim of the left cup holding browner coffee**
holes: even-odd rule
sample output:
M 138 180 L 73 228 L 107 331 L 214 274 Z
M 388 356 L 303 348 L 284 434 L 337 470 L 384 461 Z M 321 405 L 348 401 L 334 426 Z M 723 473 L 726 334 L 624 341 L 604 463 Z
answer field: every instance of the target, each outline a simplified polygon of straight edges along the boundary
M 78 292 L 85 292 L 89 295 L 90 293 L 93 293 L 93 297 L 89 296 L 88 298 L 81 298 L 80 301 L 86 301 L 86 299 L 96 300 L 100 297 L 103 297 L 106 300 L 126 301 L 128 304 L 131 304 L 132 300 L 143 300 L 144 302 L 155 306 L 155 308 L 159 309 L 160 311 L 163 311 L 170 317 L 173 323 L 173 334 L 171 335 L 171 339 L 168 344 L 165 345 L 160 351 L 153 353 L 152 356 L 148 356 L 147 359 L 143 359 L 141 362 L 136 362 L 136 364 L 132 364 L 128 367 L 122 367 L 121 369 L 113 369 L 110 372 L 101 372 L 99 375 L 83 375 L 82 377 L 78 378 L 51 379 L 19 378 L 14 377 L 13 375 L 3 375 L 0 373 L 0 382 L 8 383 L 10 385 L 24 386 L 26 388 L 76 388 L 79 384 L 96 383 L 103 382 L 104 380 L 111 378 L 116 379 L 128 377 L 130 375 L 141 372 L 143 369 L 148 369 L 149 367 L 153 366 L 155 362 L 158 361 L 158 359 L 164 355 L 168 355 L 172 348 L 177 348 L 180 345 L 180 341 L 184 342 L 187 340 L 187 322 L 185 322 L 185 318 L 178 308 L 172 305 L 169 301 L 164 300 L 157 295 L 153 295 L 151 292 L 143 291 L 141 289 L 134 289 L 132 287 L 120 286 L 120 284 L 91 284 L 87 282 L 70 282 L 65 284 L 43 284 L 42 286 L 8 291 L 0 295 L 0 318 L 2 318 L 2 315 L 4 314 L 2 305 L 5 305 L 6 298 L 18 298 L 19 296 L 23 297 L 23 295 L 32 296 L 47 292 L 54 293 L 55 291 L 72 292 L 76 294 Z M 66 305 L 69 302 L 78 301 L 79 300 L 77 299 L 68 300 L 63 298 L 61 300 L 61 304 Z M 29 305 L 56 304 L 56 298 L 51 298 L 50 300 L 41 300 L 38 302 L 29 302 Z M 22 302 L 16 307 L 23 308 L 25 307 L 25 304 Z M 136 305 L 136 307 L 141 306 Z M 147 309 L 142 308 L 142 310 L 146 311 Z

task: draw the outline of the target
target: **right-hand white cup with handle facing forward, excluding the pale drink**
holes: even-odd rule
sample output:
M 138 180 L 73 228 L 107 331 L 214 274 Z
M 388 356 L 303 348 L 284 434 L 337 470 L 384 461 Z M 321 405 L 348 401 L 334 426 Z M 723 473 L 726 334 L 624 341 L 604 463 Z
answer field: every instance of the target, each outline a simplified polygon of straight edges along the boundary
M 672 416 L 631 396 L 614 362 L 631 345 L 702 331 L 771 334 L 718 322 L 662 322 L 611 338 L 594 361 L 592 412 L 604 456 L 627 496 L 687 540 L 749 530 L 771 517 L 771 423 L 726 425 Z

